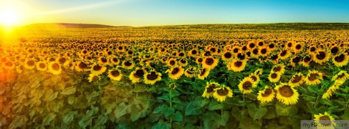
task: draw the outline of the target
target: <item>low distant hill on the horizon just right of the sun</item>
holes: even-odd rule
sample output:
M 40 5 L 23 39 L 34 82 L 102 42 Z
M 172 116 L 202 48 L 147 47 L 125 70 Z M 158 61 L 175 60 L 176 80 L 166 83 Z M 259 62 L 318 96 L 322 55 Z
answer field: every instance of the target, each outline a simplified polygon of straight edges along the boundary
M 30 24 L 28 28 L 110 28 L 115 26 L 99 25 L 99 24 L 68 24 L 68 23 L 42 23 Z

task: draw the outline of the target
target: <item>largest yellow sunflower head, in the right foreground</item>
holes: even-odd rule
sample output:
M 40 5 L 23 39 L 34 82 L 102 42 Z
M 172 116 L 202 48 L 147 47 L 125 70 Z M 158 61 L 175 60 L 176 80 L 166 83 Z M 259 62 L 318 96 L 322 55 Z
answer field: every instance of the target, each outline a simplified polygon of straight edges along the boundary
M 296 104 L 298 102 L 299 94 L 297 90 L 294 89 L 294 85 L 287 84 L 287 83 L 281 83 L 280 85 L 277 85 L 275 87 L 276 92 L 276 98 L 286 104 Z

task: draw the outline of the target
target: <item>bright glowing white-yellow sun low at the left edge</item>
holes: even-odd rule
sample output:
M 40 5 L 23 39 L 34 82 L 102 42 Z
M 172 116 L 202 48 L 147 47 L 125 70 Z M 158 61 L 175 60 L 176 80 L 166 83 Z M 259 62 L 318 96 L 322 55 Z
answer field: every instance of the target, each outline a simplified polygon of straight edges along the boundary
M 0 12 L 0 25 L 15 26 L 20 20 L 20 17 L 15 11 L 5 10 Z

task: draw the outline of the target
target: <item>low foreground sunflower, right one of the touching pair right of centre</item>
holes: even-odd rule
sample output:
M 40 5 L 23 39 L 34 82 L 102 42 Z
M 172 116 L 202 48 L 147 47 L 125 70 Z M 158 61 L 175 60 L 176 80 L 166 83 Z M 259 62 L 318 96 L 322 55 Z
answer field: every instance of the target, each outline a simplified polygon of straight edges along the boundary
M 227 97 L 232 97 L 232 90 L 229 87 L 226 87 L 224 84 L 221 84 L 220 88 L 216 88 L 214 93 L 214 98 L 217 101 L 223 102 Z

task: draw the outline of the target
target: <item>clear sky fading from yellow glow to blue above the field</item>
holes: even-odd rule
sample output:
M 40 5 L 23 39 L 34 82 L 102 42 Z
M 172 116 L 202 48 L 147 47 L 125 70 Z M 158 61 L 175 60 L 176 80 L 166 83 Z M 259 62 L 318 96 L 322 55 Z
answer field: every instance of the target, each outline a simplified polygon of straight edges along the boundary
M 0 0 L 13 25 L 34 23 L 163 26 L 349 23 L 349 1 Z M 6 16 L 5 16 L 6 17 Z M 1 18 L 1 17 L 0 17 Z M 4 19 L 4 16 L 2 17 Z M 1 20 L 1 19 L 0 19 Z M 0 23 L 1 26 L 1 23 Z

